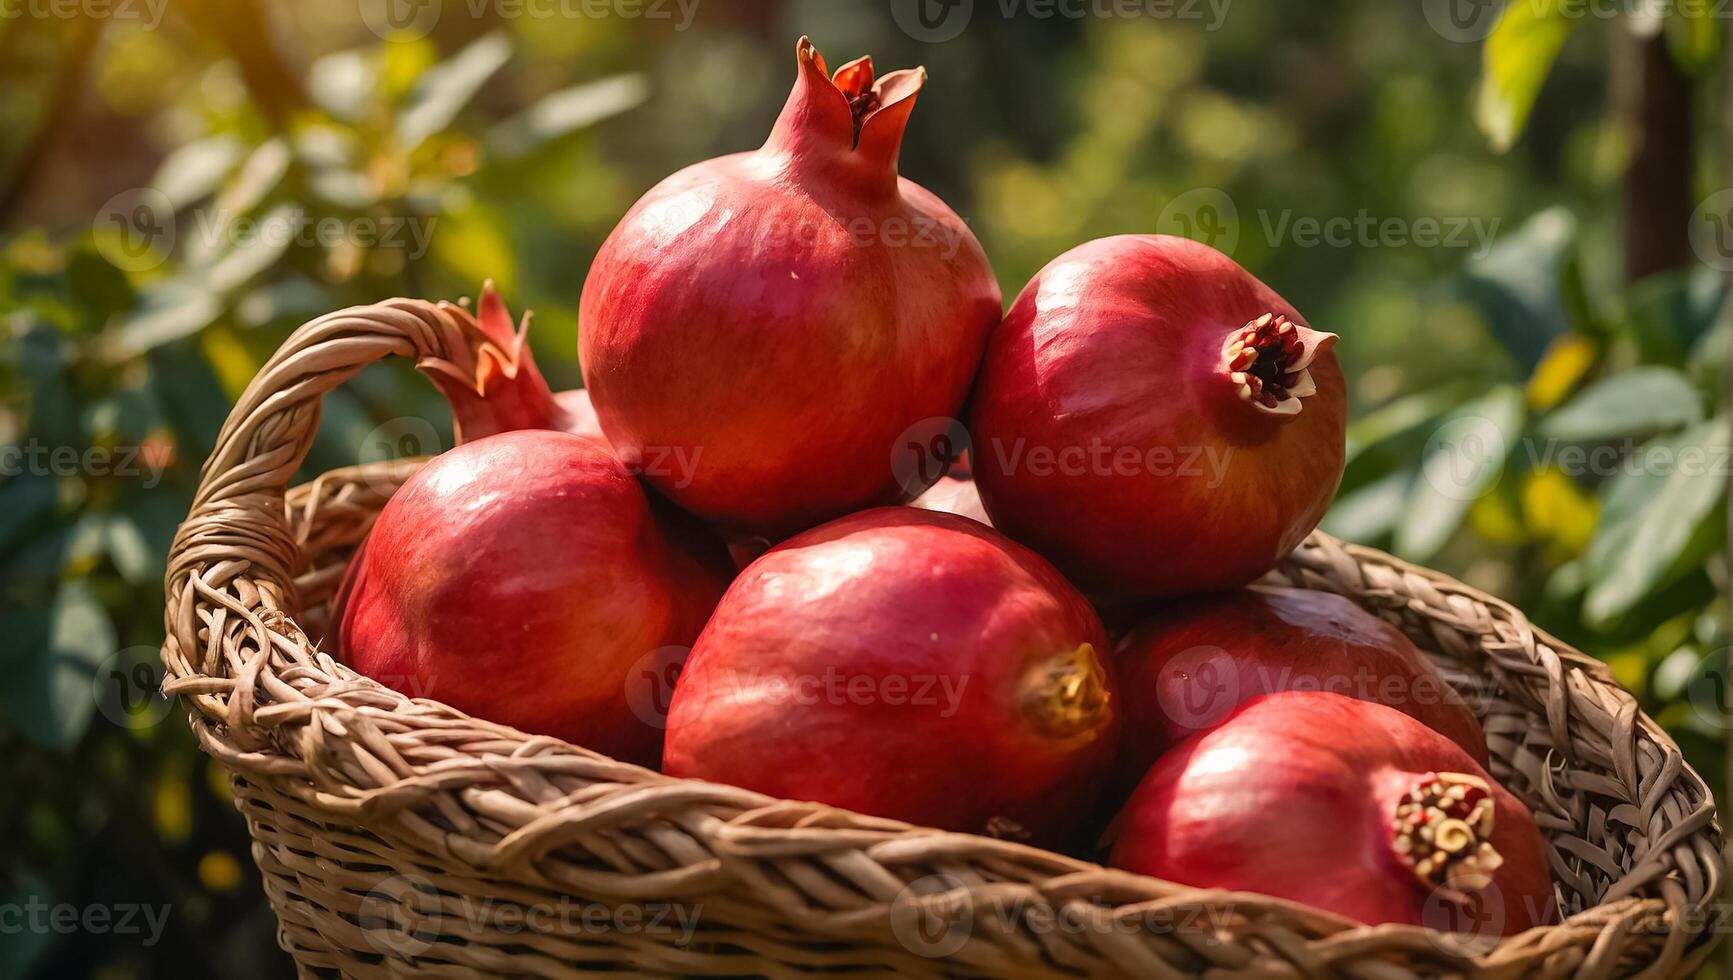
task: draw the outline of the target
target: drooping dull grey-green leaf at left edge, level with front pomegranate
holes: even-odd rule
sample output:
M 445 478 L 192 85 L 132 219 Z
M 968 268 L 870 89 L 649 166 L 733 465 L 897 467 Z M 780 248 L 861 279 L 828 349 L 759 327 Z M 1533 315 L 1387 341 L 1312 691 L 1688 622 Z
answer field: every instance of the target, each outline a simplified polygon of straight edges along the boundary
M 19 727 L 52 748 L 78 744 L 97 706 L 90 678 L 114 650 L 114 626 L 85 583 L 62 585 L 49 609 L 47 645 L 5 687 Z

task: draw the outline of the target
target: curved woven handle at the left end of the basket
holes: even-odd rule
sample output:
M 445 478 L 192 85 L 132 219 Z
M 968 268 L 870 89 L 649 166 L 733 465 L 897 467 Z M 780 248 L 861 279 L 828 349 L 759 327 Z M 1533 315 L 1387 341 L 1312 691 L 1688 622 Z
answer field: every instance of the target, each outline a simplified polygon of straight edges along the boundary
M 256 619 L 260 638 L 281 628 L 265 617 L 296 609 L 284 493 L 319 428 L 319 397 L 390 356 L 473 368 L 478 342 L 459 307 L 407 298 L 336 310 L 289 335 L 229 411 L 170 546 L 166 687 L 222 673 L 222 657 L 199 656 L 201 607 Z

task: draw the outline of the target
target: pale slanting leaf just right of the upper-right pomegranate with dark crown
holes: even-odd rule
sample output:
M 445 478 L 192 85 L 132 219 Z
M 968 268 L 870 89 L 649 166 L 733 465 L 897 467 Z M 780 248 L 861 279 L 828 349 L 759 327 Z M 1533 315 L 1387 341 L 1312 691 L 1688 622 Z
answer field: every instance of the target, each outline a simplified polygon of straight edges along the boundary
M 1492 389 L 1438 423 L 1397 522 L 1397 553 L 1411 560 L 1438 553 L 1470 505 L 1497 484 L 1522 425 L 1522 390 L 1509 385 Z

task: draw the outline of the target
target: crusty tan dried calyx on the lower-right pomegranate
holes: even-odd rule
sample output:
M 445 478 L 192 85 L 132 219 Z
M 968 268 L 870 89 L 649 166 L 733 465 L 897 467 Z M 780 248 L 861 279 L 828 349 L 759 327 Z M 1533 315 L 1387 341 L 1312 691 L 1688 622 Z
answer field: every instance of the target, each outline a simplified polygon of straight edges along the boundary
M 1390 846 L 1426 888 L 1451 902 L 1492 883 L 1492 787 L 1478 775 L 1430 772 L 1397 803 Z

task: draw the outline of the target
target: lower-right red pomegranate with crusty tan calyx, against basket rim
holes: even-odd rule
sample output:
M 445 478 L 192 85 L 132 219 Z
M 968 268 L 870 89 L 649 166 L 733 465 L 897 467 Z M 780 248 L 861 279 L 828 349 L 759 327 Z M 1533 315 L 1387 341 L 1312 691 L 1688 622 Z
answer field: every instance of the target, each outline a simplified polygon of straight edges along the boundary
M 1362 923 L 1515 935 L 1553 919 L 1534 817 L 1451 739 L 1327 692 L 1267 694 L 1149 770 L 1111 864 Z

